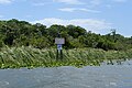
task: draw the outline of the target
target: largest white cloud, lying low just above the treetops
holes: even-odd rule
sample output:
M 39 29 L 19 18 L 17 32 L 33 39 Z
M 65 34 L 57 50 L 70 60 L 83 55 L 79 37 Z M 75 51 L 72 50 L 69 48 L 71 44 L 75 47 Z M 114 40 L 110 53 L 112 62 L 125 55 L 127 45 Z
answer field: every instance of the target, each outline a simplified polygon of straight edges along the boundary
M 48 18 L 40 21 L 34 21 L 32 23 L 42 23 L 44 25 L 51 26 L 52 24 L 61 25 L 79 25 L 85 28 L 87 31 L 101 32 L 102 30 L 111 29 L 111 23 L 106 22 L 105 20 L 94 20 L 94 19 L 75 19 L 75 20 L 62 20 L 56 18 Z

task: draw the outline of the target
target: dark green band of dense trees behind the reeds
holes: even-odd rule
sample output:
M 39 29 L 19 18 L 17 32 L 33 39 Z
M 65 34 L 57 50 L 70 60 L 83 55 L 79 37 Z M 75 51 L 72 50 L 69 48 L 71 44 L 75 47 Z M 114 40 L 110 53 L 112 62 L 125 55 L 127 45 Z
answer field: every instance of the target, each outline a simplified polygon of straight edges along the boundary
M 33 46 L 36 48 L 55 47 L 54 40 L 61 34 L 65 37 L 64 48 L 102 48 L 129 50 L 132 48 L 132 37 L 124 37 L 111 30 L 106 35 L 86 31 L 81 26 L 53 24 L 50 28 L 41 23 L 31 24 L 26 21 L 12 19 L 0 21 L 0 47 L 8 46 Z

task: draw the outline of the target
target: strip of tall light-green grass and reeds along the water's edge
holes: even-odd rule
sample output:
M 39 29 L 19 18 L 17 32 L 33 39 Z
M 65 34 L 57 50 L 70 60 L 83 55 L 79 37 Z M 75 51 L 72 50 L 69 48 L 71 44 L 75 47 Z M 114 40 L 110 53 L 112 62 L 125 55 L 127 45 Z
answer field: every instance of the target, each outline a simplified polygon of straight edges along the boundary
M 56 58 L 55 48 L 38 50 L 29 47 L 3 47 L 0 50 L 0 68 L 20 67 L 54 67 L 54 66 L 86 66 L 100 65 L 103 61 L 108 64 L 112 59 L 125 61 L 132 58 L 132 50 L 103 51 L 96 48 L 64 50 L 63 59 Z

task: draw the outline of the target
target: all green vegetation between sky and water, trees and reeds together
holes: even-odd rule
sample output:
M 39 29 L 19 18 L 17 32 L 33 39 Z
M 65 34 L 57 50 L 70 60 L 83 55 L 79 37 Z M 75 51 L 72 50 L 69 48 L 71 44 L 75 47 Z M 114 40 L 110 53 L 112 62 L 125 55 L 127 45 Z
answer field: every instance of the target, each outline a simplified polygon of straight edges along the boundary
M 65 37 L 63 58 L 56 58 L 55 37 Z M 0 68 L 112 64 L 132 58 L 132 37 L 87 32 L 75 25 L 31 24 L 15 19 L 0 21 Z

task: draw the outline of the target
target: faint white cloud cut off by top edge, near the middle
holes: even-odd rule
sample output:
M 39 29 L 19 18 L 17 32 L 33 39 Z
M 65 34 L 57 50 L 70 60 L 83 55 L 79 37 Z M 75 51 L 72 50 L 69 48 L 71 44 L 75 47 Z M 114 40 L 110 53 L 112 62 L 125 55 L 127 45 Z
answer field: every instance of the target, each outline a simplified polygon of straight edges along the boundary
M 53 1 L 63 2 L 63 3 L 66 3 L 66 4 L 85 4 L 80 0 L 53 0 Z

